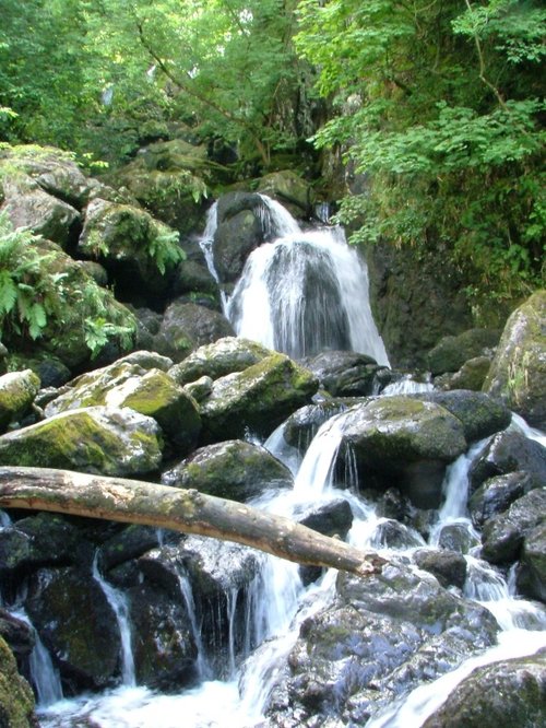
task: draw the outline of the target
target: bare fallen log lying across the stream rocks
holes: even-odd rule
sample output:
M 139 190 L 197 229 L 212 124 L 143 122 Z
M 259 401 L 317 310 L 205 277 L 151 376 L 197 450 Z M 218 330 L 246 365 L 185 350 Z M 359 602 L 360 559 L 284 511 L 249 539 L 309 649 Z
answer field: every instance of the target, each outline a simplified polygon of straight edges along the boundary
M 298 564 L 367 576 L 385 563 L 289 518 L 195 490 L 52 468 L 0 467 L 0 507 L 50 510 L 235 541 Z

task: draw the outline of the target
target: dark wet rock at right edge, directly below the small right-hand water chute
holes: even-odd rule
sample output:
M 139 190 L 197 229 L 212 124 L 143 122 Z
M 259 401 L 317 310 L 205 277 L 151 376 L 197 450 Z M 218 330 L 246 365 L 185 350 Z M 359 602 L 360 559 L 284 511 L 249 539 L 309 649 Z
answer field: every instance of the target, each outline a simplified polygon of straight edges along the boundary
M 537 485 L 546 483 L 546 447 L 517 431 L 501 432 L 472 462 L 468 480 L 472 490 L 488 478 L 518 470 L 529 473 Z

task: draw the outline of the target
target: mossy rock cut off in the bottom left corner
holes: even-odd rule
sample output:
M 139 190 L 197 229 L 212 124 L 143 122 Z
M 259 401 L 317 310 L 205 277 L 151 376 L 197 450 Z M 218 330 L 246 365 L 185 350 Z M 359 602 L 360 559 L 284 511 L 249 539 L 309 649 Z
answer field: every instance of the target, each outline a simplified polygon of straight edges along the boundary
M 36 728 L 34 695 L 31 685 L 17 672 L 17 665 L 0 637 L 0 726 Z

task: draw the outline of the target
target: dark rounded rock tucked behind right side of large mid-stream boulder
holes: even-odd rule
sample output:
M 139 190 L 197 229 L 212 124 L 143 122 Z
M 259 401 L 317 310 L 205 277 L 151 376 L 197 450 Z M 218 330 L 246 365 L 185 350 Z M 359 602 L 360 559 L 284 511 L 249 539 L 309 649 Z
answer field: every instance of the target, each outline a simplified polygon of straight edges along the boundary
M 455 389 L 415 395 L 417 399 L 441 404 L 461 420 L 468 443 L 505 430 L 511 422 L 510 410 L 484 392 Z

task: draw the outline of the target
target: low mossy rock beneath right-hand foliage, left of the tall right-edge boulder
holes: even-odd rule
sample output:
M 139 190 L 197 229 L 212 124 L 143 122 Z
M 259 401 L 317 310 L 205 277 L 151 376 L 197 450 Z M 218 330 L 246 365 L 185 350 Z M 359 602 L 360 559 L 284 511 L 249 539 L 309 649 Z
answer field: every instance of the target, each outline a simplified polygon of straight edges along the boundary
M 491 329 L 468 329 L 458 336 L 443 337 L 428 352 L 428 367 L 432 374 L 458 372 L 468 360 L 490 354 L 499 338 L 500 332 Z

